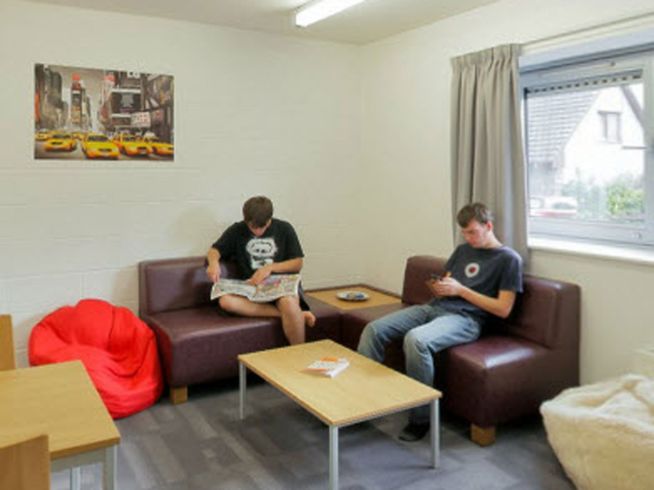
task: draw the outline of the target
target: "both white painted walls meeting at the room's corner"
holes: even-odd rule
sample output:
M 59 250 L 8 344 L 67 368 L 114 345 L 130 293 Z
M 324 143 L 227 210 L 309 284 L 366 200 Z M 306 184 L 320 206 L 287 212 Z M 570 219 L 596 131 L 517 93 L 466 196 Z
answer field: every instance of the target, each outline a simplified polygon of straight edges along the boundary
M 252 194 L 296 224 L 307 286 L 399 291 L 407 256 L 452 249 L 449 59 L 649 10 L 506 0 L 353 48 L 3 1 L 0 311 L 14 315 L 19 359 L 57 306 L 135 309 L 139 260 L 204 253 Z M 35 162 L 36 62 L 175 75 L 174 164 Z M 583 381 L 654 343 L 650 266 L 536 252 L 531 270 L 581 285 Z

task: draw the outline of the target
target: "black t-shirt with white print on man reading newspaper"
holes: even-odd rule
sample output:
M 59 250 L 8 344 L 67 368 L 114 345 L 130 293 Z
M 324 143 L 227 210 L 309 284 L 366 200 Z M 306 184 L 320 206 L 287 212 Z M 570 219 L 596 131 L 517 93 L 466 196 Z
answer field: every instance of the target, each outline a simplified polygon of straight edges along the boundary
M 273 218 L 262 236 L 250 231 L 245 221 L 239 221 L 223 232 L 213 245 L 220 257 L 235 260 L 239 279 L 250 279 L 252 274 L 272 262 L 302 258 L 304 253 L 293 226 Z

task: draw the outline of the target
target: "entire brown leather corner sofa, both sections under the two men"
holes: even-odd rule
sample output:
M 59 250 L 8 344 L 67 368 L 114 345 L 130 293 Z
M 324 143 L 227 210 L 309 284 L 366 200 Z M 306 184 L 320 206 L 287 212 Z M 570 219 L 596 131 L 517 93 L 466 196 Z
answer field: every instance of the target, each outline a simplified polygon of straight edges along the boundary
M 424 283 L 444 263 L 409 258 L 399 304 L 343 311 L 307 297 L 317 317 L 307 341 L 330 338 L 356 350 L 368 322 L 430 300 Z M 233 264 L 221 268 L 222 277 L 233 277 Z M 543 400 L 579 383 L 579 287 L 532 275 L 524 287 L 508 319 L 436 355 L 443 408 L 470 421 L 481 445 L 492 444 L 496 425 L 538 413 Z M 175 403 L 186 400 L 188 385 L 237 376 L 237 355 L 286 345 L 279 319 L 224 313 L 209 301 L 210 289 L 203 257 L 139 264 L 139 313 L 157 336 Z M 385 362 L 404 370 L 402 343 L 388 347 Z

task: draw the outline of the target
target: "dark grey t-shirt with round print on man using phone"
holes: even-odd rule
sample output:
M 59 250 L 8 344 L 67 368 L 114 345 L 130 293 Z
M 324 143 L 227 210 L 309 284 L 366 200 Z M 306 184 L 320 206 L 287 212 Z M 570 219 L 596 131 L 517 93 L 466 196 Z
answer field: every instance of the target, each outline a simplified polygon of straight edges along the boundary
M 500 290 L 523 290 L 523 260 L 505 245 L 494 249 L 475 249 L 468 243 L 459 245 L 447 259 L 445 270 L 462 285 L 491 298 L 497 298 Z M 473 317 L 482 325 L 492 316 L 458 296 L 434 301 L 443 309 Z

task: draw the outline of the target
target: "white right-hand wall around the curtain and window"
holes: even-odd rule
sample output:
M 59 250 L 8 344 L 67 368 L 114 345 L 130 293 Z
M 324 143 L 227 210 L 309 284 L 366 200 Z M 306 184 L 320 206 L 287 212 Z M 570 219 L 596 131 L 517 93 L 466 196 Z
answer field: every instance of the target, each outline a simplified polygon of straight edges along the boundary
M 650 0 L 506 0 L 364 46 L 366 277 L 400 290 L 407 255 L 452 250 L 450 58 L 651 10 Z M 628 370 L 634 349 L 654 343 L 652 266 L 534 252 L 530 271 L 581 286 L 583 382 Z

